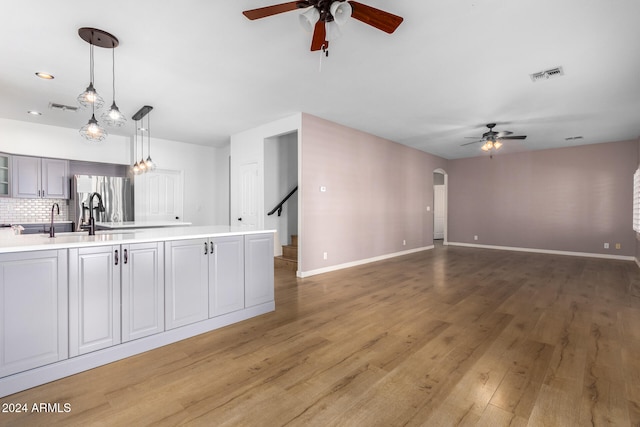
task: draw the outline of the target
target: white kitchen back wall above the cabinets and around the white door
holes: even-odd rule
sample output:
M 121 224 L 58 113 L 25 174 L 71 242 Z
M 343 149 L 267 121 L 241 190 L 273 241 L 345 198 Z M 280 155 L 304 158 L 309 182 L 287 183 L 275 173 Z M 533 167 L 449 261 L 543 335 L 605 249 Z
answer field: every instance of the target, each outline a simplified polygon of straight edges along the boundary
M 130 165 L 132 137 L 109 135 L 100 144 L 86 142 L 76 129 L 0 119 L 0 152 Z M 158 168 L 183 171 L 184 221 L 194 225 L 226 224 L 228 149 L 216 149 L 151 135 L 151 157 Z M 147 145 L 145 144 L 145 158 Z M 219 202 L 218 202 L 219 201 Z M 222 215 L 222 217 L 220 217 Z

